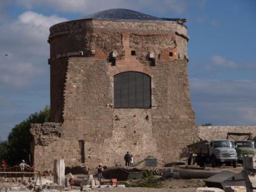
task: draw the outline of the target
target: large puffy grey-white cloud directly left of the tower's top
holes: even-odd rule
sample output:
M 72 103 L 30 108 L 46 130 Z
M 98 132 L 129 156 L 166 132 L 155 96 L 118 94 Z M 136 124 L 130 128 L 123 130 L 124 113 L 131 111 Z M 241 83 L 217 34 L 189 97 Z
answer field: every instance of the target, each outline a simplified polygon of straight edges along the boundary
M 47 71 L 49 27 L 62 21 L 66 19 L 26 11 L 0 25 L 1 86 L 22 87 Z

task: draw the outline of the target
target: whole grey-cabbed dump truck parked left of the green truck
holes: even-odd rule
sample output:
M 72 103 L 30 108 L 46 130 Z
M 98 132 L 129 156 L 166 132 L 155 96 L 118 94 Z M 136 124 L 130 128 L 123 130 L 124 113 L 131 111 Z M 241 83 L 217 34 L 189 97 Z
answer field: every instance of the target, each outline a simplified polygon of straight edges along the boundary
M 187 146 L 189 150 L 196 154 L 194 161 L 203 167 L 211 164 L 212 167 L 226 166 L 237 167 L 237 151 L 233 141 L 229 139 L 214 139 L 193 143 Z

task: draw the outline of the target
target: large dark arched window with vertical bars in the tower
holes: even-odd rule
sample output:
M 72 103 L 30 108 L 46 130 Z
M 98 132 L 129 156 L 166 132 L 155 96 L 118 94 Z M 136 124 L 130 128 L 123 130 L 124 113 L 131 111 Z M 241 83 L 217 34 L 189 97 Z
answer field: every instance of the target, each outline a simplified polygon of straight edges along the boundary
M 115 108 L 150 108 L 151 78 L 144 73 L 128 71 L 114 76 Z

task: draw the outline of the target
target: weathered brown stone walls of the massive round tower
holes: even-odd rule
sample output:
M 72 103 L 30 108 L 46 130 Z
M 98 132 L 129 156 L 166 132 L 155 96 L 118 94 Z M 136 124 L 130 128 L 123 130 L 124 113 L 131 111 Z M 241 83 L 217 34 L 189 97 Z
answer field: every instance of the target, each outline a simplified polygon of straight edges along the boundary
M 166 162 L 183 158 L 186 145 L 197 139 L 188 39 L 186 26 L 178 21 L 80 19 L 52 26 L 54 123 L 31 127 L 36 169 L 52 169 L 59 158 L 69 166 L 123 165 L 126 151 L 135 162 L 148 155 Z M 114 106 L 114 75 L 126 71 L 150 76 L 149 109 Z

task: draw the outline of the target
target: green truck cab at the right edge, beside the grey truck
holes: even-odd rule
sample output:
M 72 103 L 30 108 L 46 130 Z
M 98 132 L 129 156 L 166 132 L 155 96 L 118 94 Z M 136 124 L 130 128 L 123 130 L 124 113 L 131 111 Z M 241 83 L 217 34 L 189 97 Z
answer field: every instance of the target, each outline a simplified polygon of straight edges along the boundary
M 235 141 L 238 163 L 243 163 L 243 157 L 256 154 L 255 142 L 250 140 Z

